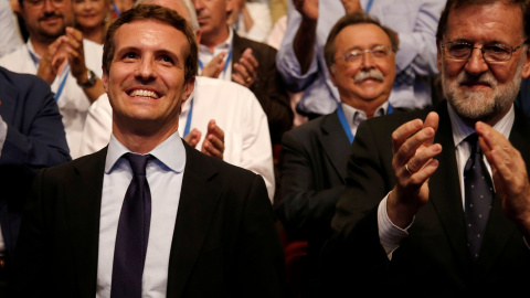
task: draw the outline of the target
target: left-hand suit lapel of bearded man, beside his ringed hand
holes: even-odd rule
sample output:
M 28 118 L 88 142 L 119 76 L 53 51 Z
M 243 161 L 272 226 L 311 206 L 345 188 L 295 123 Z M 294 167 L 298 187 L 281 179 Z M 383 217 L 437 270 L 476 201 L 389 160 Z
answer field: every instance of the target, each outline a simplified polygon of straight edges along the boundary
M 462 206 L 460 182 L 456 163 L 453 129 L 444 100 L 436 107 L 439 115 L 438 130 L 434 142 L 442 145 L 442 153 L 437 158 L 438 169 L 430 180 L 430 202 L 438 214 L 443 230 L 458 258 L 457 264 L 467 264 L 467 236 L 464 211 Z

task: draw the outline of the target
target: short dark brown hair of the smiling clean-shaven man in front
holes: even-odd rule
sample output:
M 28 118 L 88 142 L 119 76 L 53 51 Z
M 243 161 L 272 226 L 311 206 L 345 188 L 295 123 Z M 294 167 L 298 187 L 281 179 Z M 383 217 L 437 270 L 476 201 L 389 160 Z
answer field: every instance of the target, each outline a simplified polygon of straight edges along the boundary
M 195 34 L 188 25 L 188 22 L 174 10 L 162 8 L 160 6 L 140 4 L 134 7 L 127 11 L 124 11 L 108 28 L 107 35 L 105 36 L 105 44 L 103 46 L 103 67 L 104 72 L 110 70 L 114 52 L 116 45 L 114 44 L 114 36 L 116 31 L 126 24 L 134 21 L 155 20 L 162 23 L 167 23 L 180 32 L 184 33 L 188 39 L 189 51 L 184 58 L 184 78 L 188 79 L 197 74 L 199 67 L 199 50 L 197 46 Z

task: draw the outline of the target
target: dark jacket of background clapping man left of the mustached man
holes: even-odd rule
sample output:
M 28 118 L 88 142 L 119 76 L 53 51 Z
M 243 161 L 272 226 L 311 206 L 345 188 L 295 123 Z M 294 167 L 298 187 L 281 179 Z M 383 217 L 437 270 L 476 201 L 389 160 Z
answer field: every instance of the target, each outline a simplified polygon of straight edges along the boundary
M 256 81 L 250 89 L 257 97 L 267 115 L 273 143 L 279 143 L 282 135 L 293 127 L 294 114 L 286 88 L 276 70 L 277 51 L 267 44 L 241 38 L 235 32 L 233 45 L 233 63 L 237 63 L 243 52 L 248 47 L 252 49 L 252 53 L 259 63 Z

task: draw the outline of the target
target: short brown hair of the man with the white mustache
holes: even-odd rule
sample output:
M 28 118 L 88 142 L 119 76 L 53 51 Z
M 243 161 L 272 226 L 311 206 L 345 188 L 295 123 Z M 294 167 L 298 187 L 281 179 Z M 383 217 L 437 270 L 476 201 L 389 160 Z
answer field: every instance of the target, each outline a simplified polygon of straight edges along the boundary
M 326 41 L 326 45 L 324 46 L 324 57 L 326 58 L 326 65 L 328 65 L 328 67 L 331 67 L 331 65 L 335 64 L 335 52 L 337 51 L 337 49 L 335 47 L 335 39 L 340 33 L 340 31 L 342 31 L 342 29 L 354 24 L 374 24 L 381 28 L 384 33 L 389 35 L 392 51 L 398 52 L 398 40 L 395 38 L 395 31 L 385 25 L 382 25 L 378 19 L 372 18 L 364 12 L 349 13 L 340 18 L 329 32 L 328 40 Z

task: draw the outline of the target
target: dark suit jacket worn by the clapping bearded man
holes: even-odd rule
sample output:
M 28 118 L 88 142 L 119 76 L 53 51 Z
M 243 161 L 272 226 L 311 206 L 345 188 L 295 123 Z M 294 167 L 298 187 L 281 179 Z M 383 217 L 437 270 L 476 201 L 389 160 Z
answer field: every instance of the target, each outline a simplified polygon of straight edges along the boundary
M 443 148 L 437 157 L 439 167 L 428 182 L 428 202 L 415 215 L 391 262 L 380 245 L 377 222 L 378 204 L 395 184 L 391 134 L 407 120 L 424 119 L 427 113 L 378 117 L 359 128 L 348 163 L 348 187 L 332 221 L 338 234 L 325 246 L 322 259 L 328 283 L 339 294 L 513 297 L 528 288 L 530 249 L 516 225 L 502 215 L 498 198 L 494 199 L 480 257 L 476 264 L 471 262 L 446 102 L 435 110 L 439 126 L 434 141 Z M 509 139 L 526 160 L 527 171 L 529 129 L 530 120 L 517 110 Z

